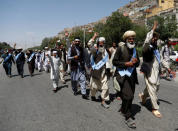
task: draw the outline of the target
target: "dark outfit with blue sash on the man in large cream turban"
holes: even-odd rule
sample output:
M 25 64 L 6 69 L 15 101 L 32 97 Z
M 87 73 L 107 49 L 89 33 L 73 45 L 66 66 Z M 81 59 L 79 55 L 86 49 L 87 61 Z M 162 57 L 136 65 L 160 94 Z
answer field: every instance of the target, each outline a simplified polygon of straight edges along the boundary
M 133 58 L 137 62 L 133 67 L 127 67 L 126 62 L 130 62 Z M 113 65 L 116 67 L 115 77 L 121 88 L 122 106 L 120 111 L 129 119 L 132 115 L 131 107 L 135 93 L 135 84 L 138 84 L 136 67 L 139 65 L 139 57 L 136 49 L 130 49 L 126 44 L 122 44 L 116 50 Z

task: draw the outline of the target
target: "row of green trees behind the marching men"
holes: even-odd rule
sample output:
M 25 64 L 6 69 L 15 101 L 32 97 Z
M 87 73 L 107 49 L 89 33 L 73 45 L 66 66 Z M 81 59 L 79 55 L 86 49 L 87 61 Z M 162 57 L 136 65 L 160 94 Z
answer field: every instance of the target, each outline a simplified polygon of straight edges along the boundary
M 165 40 L 167 37 L 178 38 L 177 31 L 177 22 L 175 18 L 166 18 L 163 17 L 154 17 L 151 20 L 148 20 L 148 28 L 146 26 L 140 26 L 132 23 L 129 17 L 125 17 L 119 12 L 113 12 L 110 17 L 108 17 L 105 24 L 98 23 L 94 26 L 93 32 L 89 33 L 87 29 L 85 31 L 81 28 L 75 28 L 75 30 L 70 34 L 70 41 L 73 41 L 75 37 L 80 37 L 81 42 L 84 43 L 84 32 L 85 32 L 85 43 L 92 38 L 94 32 L 98 32 L 99 36 L 103 36 L 106 38 L 107 47 L 110 47 L 113 42 L 119 43 L 122 40 L 122 36 L 127 30 L 133 30 L 136 32 L 136 43 L 139 51 L 139 55 L 141 55 L 141 48 L 143 42 L 146 38 L 146 34 L 153 27 L 153 22 L 157 20 L 159 26 L 157 28 L 157 32 L 160 33 L 160 39 Z M 50 48 L 54 48 L 56 41 L 59 38 L 44 38 L 41 44 L 41 49 L 45 46 Z M 61 40 L 61 43 L 65 44 L 65 39 Z

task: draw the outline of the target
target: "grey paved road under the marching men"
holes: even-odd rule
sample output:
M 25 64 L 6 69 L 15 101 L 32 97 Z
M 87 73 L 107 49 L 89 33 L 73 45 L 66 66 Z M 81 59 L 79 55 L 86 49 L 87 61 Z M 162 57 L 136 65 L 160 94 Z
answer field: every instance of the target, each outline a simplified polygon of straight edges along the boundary
M 16 69 L 13 68 L 14 75 Z M 138 93 L 144 88 L 139 75 L 133 111 L 137 131 L 174 131 L 178 129 L 178 82 L 161 80 L 159 91 L 162 119 L 155 118 L 149 106 L 139 103 Z M 112 83 L 110 91 L 113 93 Z M 118 112 L 121 101 L 114 100 L 103 109 L 98 102 L 73 96 L 70 81 L 52 92 L 49 74 L 35 73 L 25 78 L 7 78 L 0 66 L 0 131 L 129 131 Z M 147 103 L 149 105 L 149 101 Z

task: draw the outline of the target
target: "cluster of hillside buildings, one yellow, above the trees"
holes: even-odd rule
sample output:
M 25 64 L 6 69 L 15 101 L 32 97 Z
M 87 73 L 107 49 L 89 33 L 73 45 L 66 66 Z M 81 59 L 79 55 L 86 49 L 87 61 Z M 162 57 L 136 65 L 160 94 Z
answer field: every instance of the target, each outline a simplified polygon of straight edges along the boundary
M 142 25 L 154 16 L 174 17 L 178 21 L 178 0 L 135 0 L 118 12 Z

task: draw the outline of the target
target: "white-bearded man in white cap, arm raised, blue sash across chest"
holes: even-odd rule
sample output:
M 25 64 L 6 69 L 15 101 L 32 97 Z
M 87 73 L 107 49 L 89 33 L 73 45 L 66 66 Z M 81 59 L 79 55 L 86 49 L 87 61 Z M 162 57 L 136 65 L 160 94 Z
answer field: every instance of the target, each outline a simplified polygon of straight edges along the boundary
M 88 42 L 88 46 L 91 48 L 91 79 L 90 79 L 90 91 L 92 101 L 96 101 L 96 92 L 101 90 L 101 105 L 104 108 L 109 108 L 106 101 L 109 101 L 109 88 L 108 88 L 108 75 L 110 75 L 110 61 L 109 51 L 105 49 L 105 38 L 99 37 L 97 42 L 97 48 L 94 47 L 95 39 L 98 33 L 95 33 L 93 38 Z

